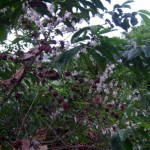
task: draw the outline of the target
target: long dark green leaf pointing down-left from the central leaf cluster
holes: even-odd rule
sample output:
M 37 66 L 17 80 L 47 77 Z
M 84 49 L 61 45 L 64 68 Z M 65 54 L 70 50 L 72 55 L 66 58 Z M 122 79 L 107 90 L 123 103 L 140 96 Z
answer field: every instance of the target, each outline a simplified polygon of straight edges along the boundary
M 83 47 L 83 45 L 74 47 L 72 49 L 70 49 L 69 51 L 65 51 L 64 53 L 62 53 L 56 64 L 59 65 L 66 65 L 77 53 L 78 51 L 80 51 L 80 49 Z

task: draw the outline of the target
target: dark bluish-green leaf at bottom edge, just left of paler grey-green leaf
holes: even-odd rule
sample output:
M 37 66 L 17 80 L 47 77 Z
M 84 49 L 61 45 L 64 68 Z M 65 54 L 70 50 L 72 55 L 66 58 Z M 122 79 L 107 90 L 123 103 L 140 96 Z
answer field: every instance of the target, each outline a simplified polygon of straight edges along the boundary
M 117 133 L 112 135 L 111 146 L 112 150 L 123 150 L 123 143 Z

